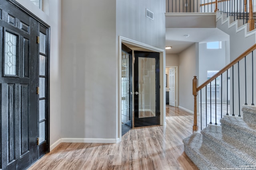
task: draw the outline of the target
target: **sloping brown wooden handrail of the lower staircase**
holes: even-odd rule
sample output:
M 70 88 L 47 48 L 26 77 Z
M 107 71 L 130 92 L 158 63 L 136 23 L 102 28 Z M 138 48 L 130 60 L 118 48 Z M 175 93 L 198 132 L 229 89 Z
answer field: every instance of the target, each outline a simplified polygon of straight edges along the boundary
M 201 90 L 202 88 L 204 88 L 205 86 L 207 86 L 207 84 L 209 84 L 210 82 L 212 82 L 215 78 L 217 78 L 218 76 L 220 76 L 221 74 L 223 74 L 224 72 L 226 72 L 226 70 L 228 70 L 229 68 L 231 68 L 234 64 L 238 63 L 238 61 L 242 60 L 244 57 L 246 57 L 247 55 L 249 55 L 250 53 L 252 53 L 252 51 L 254 51 L 256 49 L 256 44 L 254 44 L 252 47 L 250 47 L 248 50 L 246 50 L 244 53 L 242 53 L 239 57 L 237 57 L 236 59 L 234 59 L 231 63 L 229 63 L 228 65 L 226 65 L 224 68 L 222 68 L 219 72 L 217 72 L 216 74 L 214 74 L 214 76 L 212 76 L 210 79 L 208 79 L 206 82 L 204 82 L 202 85 L 198 86 L 198 88 L 196 88 L 196 91 L 198 92 L 199 90 Z

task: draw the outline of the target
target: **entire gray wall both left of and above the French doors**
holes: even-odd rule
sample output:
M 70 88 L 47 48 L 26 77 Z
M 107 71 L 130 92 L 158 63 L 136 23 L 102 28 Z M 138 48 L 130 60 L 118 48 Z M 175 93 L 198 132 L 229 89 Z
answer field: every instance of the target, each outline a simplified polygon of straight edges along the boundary
M 118 137 L 118 36 L 164 49 L 164 10 L 163 0 L 62 0 L 62 138 Z

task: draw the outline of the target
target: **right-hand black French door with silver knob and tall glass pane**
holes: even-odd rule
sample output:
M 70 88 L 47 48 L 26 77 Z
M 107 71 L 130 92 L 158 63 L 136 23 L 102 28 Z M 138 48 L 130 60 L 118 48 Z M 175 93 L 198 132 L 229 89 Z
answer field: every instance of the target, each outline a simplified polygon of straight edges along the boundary
M 134 127 L 159 125 L 159 53 L 134 51 L 134 57 Z

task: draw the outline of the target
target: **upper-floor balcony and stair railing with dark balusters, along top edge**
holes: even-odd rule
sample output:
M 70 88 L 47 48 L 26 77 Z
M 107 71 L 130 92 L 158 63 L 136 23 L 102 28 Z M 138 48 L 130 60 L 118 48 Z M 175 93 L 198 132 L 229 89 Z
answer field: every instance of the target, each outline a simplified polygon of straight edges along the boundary
M 250 23 L 250 31 L 255 28 L 252 0 L 167 0 L 166 12 L 216 12 L 220 11 L 235 20 Z

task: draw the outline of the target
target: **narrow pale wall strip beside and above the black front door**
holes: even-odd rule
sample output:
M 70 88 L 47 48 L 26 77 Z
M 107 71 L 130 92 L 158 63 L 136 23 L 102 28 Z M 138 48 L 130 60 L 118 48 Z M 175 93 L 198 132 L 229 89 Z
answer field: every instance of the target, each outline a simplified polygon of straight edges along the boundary
M 50 25 L 50 146 L 60 139 L 60 33 L 61 0 L 50 0 L 47 14 L 37 8 L 30 0 L 16 0 L 45 23 Z

